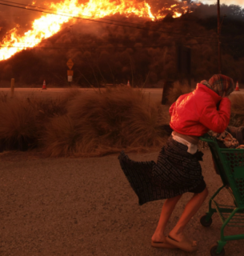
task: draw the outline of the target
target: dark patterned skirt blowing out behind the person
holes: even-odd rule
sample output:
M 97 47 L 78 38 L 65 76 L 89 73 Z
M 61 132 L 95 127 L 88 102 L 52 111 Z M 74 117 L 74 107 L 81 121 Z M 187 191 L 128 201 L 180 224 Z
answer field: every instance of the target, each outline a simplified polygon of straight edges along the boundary
M 206 186 L 198 162 L 202 160 L 202 152 L 190 154 L 187 149 L 170 136 L 158 155 L 157 164 L 132 161 L 123 151 L 119 154 L 120 165 L 138 195 L 139 205 L 194 192 L 201 184 Z

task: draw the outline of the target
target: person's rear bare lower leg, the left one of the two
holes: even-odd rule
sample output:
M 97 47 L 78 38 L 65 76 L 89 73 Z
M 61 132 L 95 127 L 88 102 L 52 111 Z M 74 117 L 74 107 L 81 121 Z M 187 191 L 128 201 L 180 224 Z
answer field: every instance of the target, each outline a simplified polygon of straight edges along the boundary
M 162 206 L 162 212 L 158 221 L 158 226 L 152 236 L 153 242 L 166 242 L 166 238 L 164 235 L 164 230 L 166 228 L 166 224 L 172 214 L 174 207 L 176 206 L 178 200 L 182 197 L 182 195 L 178 195 L 174 198 L 168 198 L 164 202 Z

